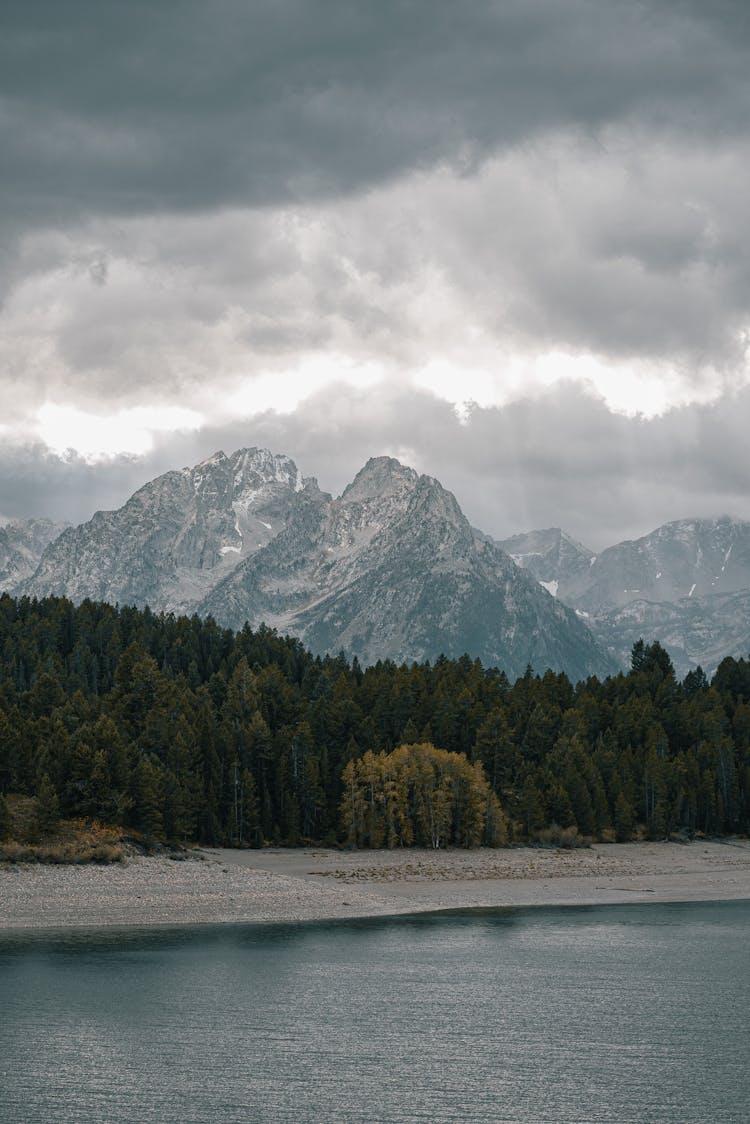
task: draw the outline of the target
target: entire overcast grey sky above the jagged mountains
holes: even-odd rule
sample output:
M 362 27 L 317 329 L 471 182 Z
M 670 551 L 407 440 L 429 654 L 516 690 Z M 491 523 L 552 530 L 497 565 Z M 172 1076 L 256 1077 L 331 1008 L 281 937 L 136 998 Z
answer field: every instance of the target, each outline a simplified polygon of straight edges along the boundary
M 747 0 L 3 0 L 0 515 L 371 455 L 750 518 Z

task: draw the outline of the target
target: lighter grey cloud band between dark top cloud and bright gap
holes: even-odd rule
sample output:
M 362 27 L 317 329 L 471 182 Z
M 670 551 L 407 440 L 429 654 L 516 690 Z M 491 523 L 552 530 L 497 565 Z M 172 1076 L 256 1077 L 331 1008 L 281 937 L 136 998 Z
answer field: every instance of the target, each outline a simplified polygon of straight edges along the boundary
M 744 378 L 750 145 L 609 134 L 423 173 L 337 203 L 98 220 L 30 237 L 4 310 L 17 408 L 197 405 L 311 354 L 501 381 L 513 354 Z M 572 373 L 572 372 L 571 372 Z M 616 375 L 613 375 L 613 378 Z M 680 400 L 679 393 L 677 399 Z

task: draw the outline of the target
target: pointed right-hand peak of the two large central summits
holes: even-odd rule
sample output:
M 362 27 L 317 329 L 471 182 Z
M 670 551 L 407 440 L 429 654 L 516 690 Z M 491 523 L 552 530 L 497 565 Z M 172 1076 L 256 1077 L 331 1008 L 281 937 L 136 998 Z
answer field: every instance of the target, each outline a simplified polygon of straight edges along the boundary
M 236 626 L 245 606 L 314 651 L 365 663 L 469 652 L 513 676 L 527 663 L 573 678 L 607 667 L 575 614 L 477 535 L 450 492 L 388 457 L 340 499 L 310 497 L 199 608 Z

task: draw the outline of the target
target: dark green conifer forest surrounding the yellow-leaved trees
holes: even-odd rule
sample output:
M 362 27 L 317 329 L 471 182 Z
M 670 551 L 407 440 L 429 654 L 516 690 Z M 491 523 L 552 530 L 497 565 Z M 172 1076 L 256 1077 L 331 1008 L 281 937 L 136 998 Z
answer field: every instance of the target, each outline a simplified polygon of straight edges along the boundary
M 263 627 L 0 597 L 0 792 L 37 797 L 47 818 L 344 842 L 346 767 L 405 744 L 481 764 L 512 840 L 750 830 L 742 659 L 678 682 L 639 643 L 626 674 L 510 683 L 468 656 L 363 669 Z

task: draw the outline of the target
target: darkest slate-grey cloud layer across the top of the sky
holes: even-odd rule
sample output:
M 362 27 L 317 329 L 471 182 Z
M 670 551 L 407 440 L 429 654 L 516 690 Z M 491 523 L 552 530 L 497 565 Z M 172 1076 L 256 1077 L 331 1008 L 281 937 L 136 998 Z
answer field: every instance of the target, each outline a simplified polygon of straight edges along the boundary
M 627 118 L 732 135 L 747 35 L 678 0 L 9 0 L 2 208 L 277 205 Z

